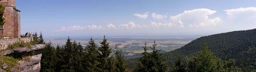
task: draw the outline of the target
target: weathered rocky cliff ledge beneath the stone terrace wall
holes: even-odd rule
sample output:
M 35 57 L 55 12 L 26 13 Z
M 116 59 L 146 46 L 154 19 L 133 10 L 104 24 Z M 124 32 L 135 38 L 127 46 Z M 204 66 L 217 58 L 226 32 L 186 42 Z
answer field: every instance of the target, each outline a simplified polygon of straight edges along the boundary
M 1 52 L 4 56 L 14 56 L 14 58 L 20 59 L 18 61 L 18 68 L 11 69 L 11 72 L 39 72 L 41 69 L 41 49 L 45 46 L 44 44 L 37 44 L 32 46 L 31 49 L 21 47 L 13 50 L 3 50 Z M 4 69 L 7 68 L 6 66 L 4 63 L 0 72 L 5 72 Z

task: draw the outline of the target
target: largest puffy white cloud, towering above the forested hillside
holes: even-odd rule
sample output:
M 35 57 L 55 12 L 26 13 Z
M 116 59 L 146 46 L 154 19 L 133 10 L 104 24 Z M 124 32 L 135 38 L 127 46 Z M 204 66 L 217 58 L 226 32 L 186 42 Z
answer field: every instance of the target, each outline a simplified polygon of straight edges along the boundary
M 184 27 L 186 25 L 190 27 L 197 26 L 210 26 L 220 24 L 222 20 L 219 17 L 210 19 L 209 15 L 216 13 L 215 10 L 209 9 L 194 9 L 194 10 L 186 10 L 181 14 L 176 16 L 171 16 L 172 23 L 177 24 L 180 27 Z

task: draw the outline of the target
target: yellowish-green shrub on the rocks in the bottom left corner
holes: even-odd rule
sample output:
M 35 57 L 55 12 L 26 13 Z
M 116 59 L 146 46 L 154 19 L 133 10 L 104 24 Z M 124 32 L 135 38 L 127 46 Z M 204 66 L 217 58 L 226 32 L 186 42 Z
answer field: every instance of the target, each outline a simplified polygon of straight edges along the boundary
M 11 69 L 17 69 L 18 70 L 18 59 L 14 59 L 13 57 L 9 57 L 9 56 L 1 56 L 0 57 L 0 67 L 2 68 L 3 64 L 7 64 L 7 68 L 4 69 L 7 72 L 10 72 Z

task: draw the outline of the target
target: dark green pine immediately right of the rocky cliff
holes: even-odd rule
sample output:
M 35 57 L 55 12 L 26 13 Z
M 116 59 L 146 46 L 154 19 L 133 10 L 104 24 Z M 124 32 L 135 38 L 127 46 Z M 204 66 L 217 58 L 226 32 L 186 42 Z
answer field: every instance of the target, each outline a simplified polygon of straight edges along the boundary
M 55 72 L 56 66 L 56 50 L 49 42 L 46 47 L 42 49 L 41 57 L 41 71 L 40 72 Z

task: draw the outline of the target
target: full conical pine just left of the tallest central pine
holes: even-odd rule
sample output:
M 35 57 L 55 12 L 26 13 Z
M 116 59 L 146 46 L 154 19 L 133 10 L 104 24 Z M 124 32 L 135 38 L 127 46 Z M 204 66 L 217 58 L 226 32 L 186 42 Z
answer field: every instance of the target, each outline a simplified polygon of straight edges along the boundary
M 97 45 L 95 44 L 95 41 L 91 38 L 90 41 L 88 42 L 89 45 L 86 46 L 86 56 L 85 56 L 85 65 L 86 65 L 86 70 L 88 72 L 99 72 L 100 68 L 97 67 L 97 65 L 100 64 L 98 62 L 99 60 L 99 52 Z

